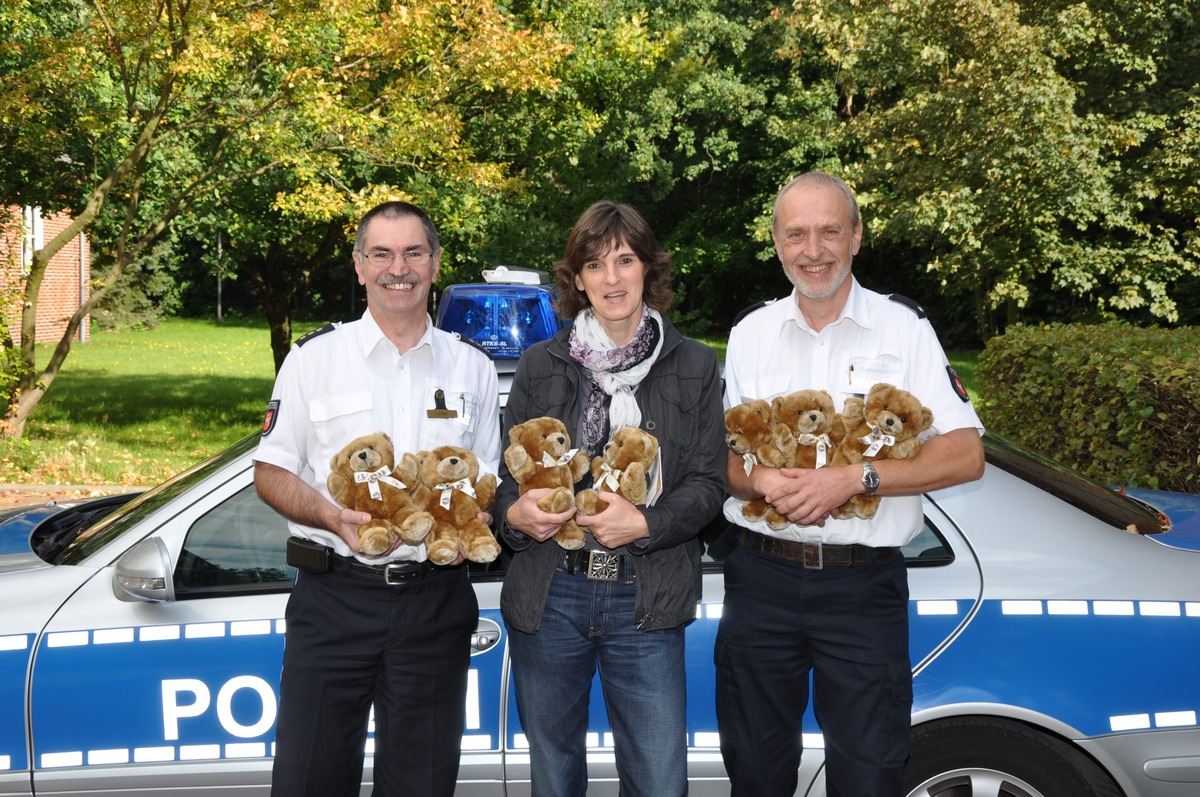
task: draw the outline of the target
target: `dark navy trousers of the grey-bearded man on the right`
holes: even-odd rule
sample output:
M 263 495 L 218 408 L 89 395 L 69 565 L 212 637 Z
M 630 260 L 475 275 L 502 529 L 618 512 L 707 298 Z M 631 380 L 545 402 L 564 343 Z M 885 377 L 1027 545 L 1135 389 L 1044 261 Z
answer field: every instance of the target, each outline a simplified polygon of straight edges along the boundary
M 912 713 L 902 557 L 809 570 L 738 547 L 714 659 L 732 797 L 796 792 L 810 672 L 826 793 L 901 793 Z

